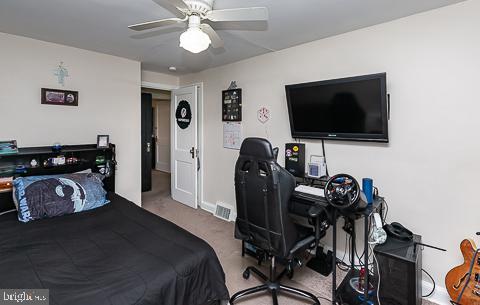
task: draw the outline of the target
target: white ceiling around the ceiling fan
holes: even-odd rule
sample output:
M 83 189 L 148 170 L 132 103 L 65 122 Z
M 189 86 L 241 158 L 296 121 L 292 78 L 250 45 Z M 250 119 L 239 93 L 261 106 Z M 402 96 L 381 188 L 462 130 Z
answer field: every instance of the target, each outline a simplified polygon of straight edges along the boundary
M 0 0 L 0 32 L 126 57 L 142 68 L 197 72 L 273 50 L 345 33 L 462 0 L 217 0 L 215 8 L 266 6 L 268 23 L 215 23 L 222 49 L 191 54 L 182 27 L 138 33 L 130 24 L 174 17 L 166 0 Z

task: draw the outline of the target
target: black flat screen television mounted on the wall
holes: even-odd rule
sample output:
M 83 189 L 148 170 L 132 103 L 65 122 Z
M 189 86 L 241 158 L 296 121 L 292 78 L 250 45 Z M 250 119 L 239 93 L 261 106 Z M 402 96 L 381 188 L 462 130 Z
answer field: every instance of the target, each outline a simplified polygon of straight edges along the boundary
M 287 85 L 293 138 L 388 142 L 386 73 Z

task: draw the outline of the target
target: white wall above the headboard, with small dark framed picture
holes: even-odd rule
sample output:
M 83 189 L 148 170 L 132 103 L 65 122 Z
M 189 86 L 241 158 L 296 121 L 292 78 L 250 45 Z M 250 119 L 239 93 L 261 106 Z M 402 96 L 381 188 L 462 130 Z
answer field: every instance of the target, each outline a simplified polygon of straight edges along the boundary
M 117 145 L 116 191 L 140 204 L 140 63 L 3 33 L 0 50 L 0 139 L 48 146 L 108 134 Z M 62 88 L 53 75 L 61 61 L 78 107 L 40 104 L 41 88 Z

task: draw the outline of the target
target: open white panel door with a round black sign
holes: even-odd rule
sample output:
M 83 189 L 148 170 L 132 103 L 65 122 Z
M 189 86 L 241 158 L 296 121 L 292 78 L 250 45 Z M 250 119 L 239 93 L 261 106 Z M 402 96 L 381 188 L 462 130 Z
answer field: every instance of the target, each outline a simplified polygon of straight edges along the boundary
M 197 86 L 172 91 L 172 198 L 197 208 Z

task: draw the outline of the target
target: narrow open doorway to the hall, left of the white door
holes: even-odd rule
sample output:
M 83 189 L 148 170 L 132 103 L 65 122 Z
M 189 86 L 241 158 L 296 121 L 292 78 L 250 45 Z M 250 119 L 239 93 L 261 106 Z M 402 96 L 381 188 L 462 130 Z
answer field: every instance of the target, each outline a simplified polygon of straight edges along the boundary
M 171 91 L 142 87 L 142 201 L 171 197 Z

